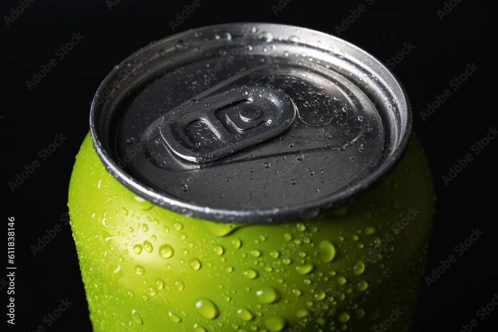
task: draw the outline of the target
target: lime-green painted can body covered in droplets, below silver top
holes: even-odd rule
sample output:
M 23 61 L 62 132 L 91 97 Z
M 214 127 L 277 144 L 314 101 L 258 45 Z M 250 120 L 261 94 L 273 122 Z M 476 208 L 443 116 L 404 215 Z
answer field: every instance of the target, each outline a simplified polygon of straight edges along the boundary
M 137 197 L 106 172 L 87 135 L 68 205 L 94 331 L 363 332 L 382 324 L 403 332 L 434 203 L 412 133 L 395 170 L 357 201 L 311 220 L 255 225 L 189 218 Z

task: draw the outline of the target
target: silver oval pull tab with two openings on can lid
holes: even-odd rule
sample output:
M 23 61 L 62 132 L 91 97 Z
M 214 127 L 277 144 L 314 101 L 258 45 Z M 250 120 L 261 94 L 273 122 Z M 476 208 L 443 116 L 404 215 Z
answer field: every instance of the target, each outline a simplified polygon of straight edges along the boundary
M 205 163 L 281 134 L 295 117 L 289 96 L 252 86 L 170 111 L 163 116 L 159 132 L 177 156 Z

